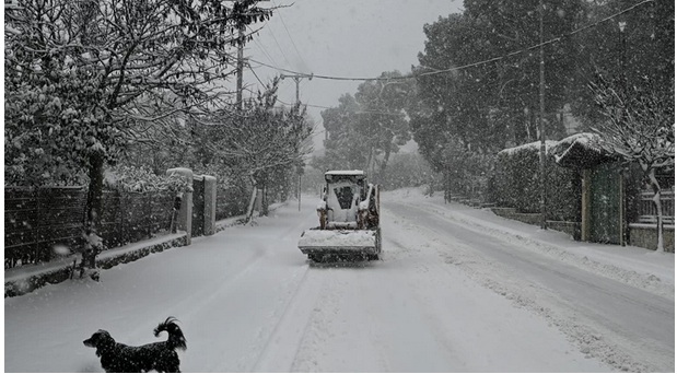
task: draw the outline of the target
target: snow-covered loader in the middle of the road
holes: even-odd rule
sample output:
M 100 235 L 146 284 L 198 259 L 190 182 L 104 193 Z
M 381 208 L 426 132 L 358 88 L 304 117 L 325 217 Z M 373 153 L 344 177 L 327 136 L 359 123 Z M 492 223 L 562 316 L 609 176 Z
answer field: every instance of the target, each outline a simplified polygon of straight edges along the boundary
M 367 184 L 362 171 L 327 172 L 325 180 L 319 226 L 301 234 L 299 249 L 313 261 L 325 256 L 378 259 L 378 186 Z

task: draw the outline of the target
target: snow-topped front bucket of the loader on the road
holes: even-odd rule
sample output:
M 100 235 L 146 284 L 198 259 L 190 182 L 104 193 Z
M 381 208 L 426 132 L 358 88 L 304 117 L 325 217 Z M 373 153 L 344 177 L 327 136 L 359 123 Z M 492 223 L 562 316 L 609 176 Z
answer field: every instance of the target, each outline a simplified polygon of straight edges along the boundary
M 371 255 L 381 253 L 380 230 L 306 230 L 299 239 L 304 255 Z

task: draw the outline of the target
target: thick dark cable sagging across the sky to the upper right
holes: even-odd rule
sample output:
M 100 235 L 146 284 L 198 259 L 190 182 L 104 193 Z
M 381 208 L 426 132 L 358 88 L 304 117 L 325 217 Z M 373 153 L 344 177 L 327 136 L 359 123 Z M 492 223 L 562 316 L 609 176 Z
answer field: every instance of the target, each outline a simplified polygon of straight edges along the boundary
M 471 63 L 463 65 L 463 66 L 459 66 L 459 67 L 454 67 L 454 68 L 448 68 L 448 69 L 439 69 L 439 70 L 433 70 L 433 71 L 428 71 L 428 72 L 422 72 L 422 73 L 416 73 L 416 74 L 415 73 L 409 73 L 409 74 L 405 74 L 405 75 L 401 75 L 401 77 L 392 77 L 392 78 L 383 78 L 383 77 L 377 77 L 377 78 L 354 78 L 354 77 L 332 77 L 332 75 L 323 75 L 323 74 L 313 74 L 313 78 L 324 79 L 324 80 L 335 80 L 335 81 L 395 81 L 395 80 L 416 79 L 416 78 L 419 78 L 419 77 L 427 77 L 427 75 L 436 75 L 436 74 L 448 73 L 448 72 L 453 72 L 453 71 L 475 68 L 475 67 L 482 66 L 482 65 L 498 62 L 498 61 L 501 61 L 503 59 L 507 59 L 507 58 L 511 58 L 511 57 L 514 57 L 514 56 L 517 56 L 517 55 L 521 55 L 521 54 L 524 54 L 524 52 L 527 52 L 527 51 L 540 48 L 541 46 L 547 46 L 547 45 L 550 45 L 550 44 L 559 43 L 559 42 L 561 42 L 565 37 L 570 37 L 570 36 L 573 36 L 575 34 L 579 34 L 579 33 L 581 33 L 583 31 L 586 31 L 588 28 L 596 27 L 596 26 L 598 26 L 599 24 L 602 24 L 602 23 L 604 23 L 606 21 L 612 20 L 612 19 L 615 19 L 615 17 L 617 17 L 619 15 L 628 13 L 628 12 L 634 10 L 635 8 L 639 8 L 639 7 L 641 7 L 643 4 L 646 4 L 646 3 L 650 3 L 650 2 L 655 2 L 655 0 L 644 0 L 644 1 L 639 2 L 639 3 L 637 3 L 637 4 L 634 4 L 634 5 L 630 7 L 630 8 L 625 9 L 625 10 L 622 10 L 620 12 L 617 12 L 617 13 L 614 13 L 614 14 L 607 16 L 607 17 L 604 17 L 604 19 L 602 19 L 599 21 L 596 21 L 596 22 L 591 23 L 588 25 L 585 25 L 583 27 L 576 28 L 576 30 L 574 30 L 574 31 L 572 31 L 570 33 L 562 34 L 562 35 L 560 35 L 558 37 L 555 37 L 555 38 L 551 38 L 549 40 L 546 40 L 546 42 L 542 42 L 542 43 L 538 43 L 538 44 L 533 45 L 530 47 L 523 48 L 523 49 L 520 49 L 520 50 L 515 50 L 515 51 L 512 51 L 512 52 L 503 55 L 503 56 L 498 56 L 498 57 L 493 57 L 493 58 L 490 58 L 490 59 L 486 59 L 486 60 L 481 60 L 481 61 L 477 61 L 477 62 L 471 62 Z M 264 63 L 264 62 L 260 62 L 260 61 L 257 61 L 257 60 L 254 60 L 254 59 L 249 59 L 249 60 L 253 61 L 253 62 L 259 63 L 261 66 L 265 66 L 265 67 L 268 67 L 268 68 L 271 68 L 271 69 L 276 69 L 278 71 L 284 71 L 284 72 L 289 72 L 289 73 L 292 73 L 292 74 L 305 74 L 305 73 L 302 73 L 302 72 L 299 72 L 299 71 L 289 70 L 289 69 L 282 69 L 282 68 L 278 68 L 278 67 L 275 67 L 275 66 L 270 66 L 268 63 Z

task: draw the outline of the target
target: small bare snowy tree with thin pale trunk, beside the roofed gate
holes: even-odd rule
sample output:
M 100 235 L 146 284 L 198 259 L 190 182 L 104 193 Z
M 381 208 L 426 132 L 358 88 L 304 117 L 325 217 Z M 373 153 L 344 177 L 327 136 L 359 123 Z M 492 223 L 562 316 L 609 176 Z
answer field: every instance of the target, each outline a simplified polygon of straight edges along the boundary
M 646 82 L 649 83 L 649 82 Z M 600 145 L 641 166 L 653 189 L 658 221 L 657 250 L 663 252 L 663 210 L 656 172 L 675 167 L 675 91 L 658 95 L 651 84 L 618 87 L 598 79 L 591 84 L 600 113 L 606 117 L 593 130 Z

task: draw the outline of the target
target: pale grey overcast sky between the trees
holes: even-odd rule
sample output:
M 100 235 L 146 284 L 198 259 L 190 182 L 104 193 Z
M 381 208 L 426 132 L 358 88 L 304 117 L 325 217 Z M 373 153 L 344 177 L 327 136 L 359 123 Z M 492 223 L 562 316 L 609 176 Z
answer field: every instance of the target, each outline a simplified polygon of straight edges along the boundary
M 293 1 L 293 2 L 292 2 Z M 271 0 L 261 5 L 288 5 L 276 11 L 247 44 L 245 56 L 270 66 L 336 77 L 377 77 L 383 71 L 410 71 L 423 50 L 423 25 L 462 11 L 462 0 Z M 261 24 L 258 24 L 259 26 Z M 269 82 L 280 71 L 252 62 L 258 78 Z M 245 85 L 260 87 L 250 71 Z M 301 102 L 322 132 L 323 108 L 337 106 L 343 93 L 354 94 L 360 82 L 306 79 Z M 244 96 L 248 94 L 245 92 Z M 282 81 L 279 100 L 295 101 L 295 83 Z

